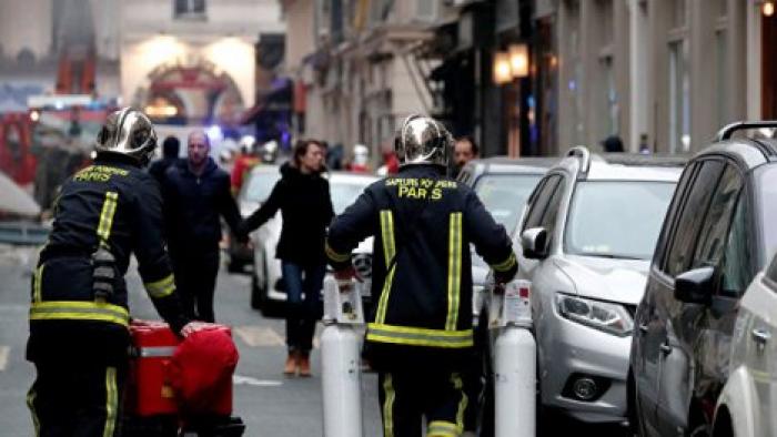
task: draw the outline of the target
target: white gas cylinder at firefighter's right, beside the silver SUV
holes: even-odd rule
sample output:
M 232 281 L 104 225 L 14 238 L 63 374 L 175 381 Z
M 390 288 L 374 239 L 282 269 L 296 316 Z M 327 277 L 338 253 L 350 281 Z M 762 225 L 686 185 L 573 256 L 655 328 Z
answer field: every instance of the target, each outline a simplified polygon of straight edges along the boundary
M 492 295 L 490 327 L 494 345 L 495 436 L 536 435 L 536 354 L 532 334 L 531 283 L 516 280 Z

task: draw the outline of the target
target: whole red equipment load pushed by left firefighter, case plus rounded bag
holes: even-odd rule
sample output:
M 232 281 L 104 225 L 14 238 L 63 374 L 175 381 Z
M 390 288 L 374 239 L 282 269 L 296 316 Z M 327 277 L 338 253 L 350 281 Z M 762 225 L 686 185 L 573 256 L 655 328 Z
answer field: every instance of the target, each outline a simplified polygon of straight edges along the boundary
M 130 364 L 128 414 L 232 413 L 232 374 L 239 355 L 228 326 L 181 341 L 165 323 L 134 321 L 130 333 L 137 359 Z

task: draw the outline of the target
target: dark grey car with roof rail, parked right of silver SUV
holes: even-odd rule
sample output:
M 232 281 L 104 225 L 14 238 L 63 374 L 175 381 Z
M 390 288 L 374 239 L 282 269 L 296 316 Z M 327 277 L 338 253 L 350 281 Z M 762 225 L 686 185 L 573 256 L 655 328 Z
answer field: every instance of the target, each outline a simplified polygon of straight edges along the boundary
M 694 156 L 664 221 L 634 322 L 640 436 L 709 435 L 740 299 L 777 247 L 777 143 L 731 139 L 748 126 L 725 128 Z

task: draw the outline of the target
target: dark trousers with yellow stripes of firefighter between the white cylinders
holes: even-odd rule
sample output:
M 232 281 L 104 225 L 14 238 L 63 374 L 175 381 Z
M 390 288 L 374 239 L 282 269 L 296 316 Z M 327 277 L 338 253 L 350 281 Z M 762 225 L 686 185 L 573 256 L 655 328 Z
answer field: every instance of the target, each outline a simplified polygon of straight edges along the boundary
M 381 372 L 379 400 L 384 437 L 458 437 L 467 397 L 462 377 L 451 372 Z

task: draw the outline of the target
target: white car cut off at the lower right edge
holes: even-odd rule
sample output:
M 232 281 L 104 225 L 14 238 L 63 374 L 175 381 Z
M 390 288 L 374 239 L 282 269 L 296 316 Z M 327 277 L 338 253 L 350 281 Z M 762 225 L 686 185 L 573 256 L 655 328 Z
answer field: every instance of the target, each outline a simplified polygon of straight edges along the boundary
M 777 437 L 777 256 L 739 303 L 730 374 L 713 423 L 717 437 Z

